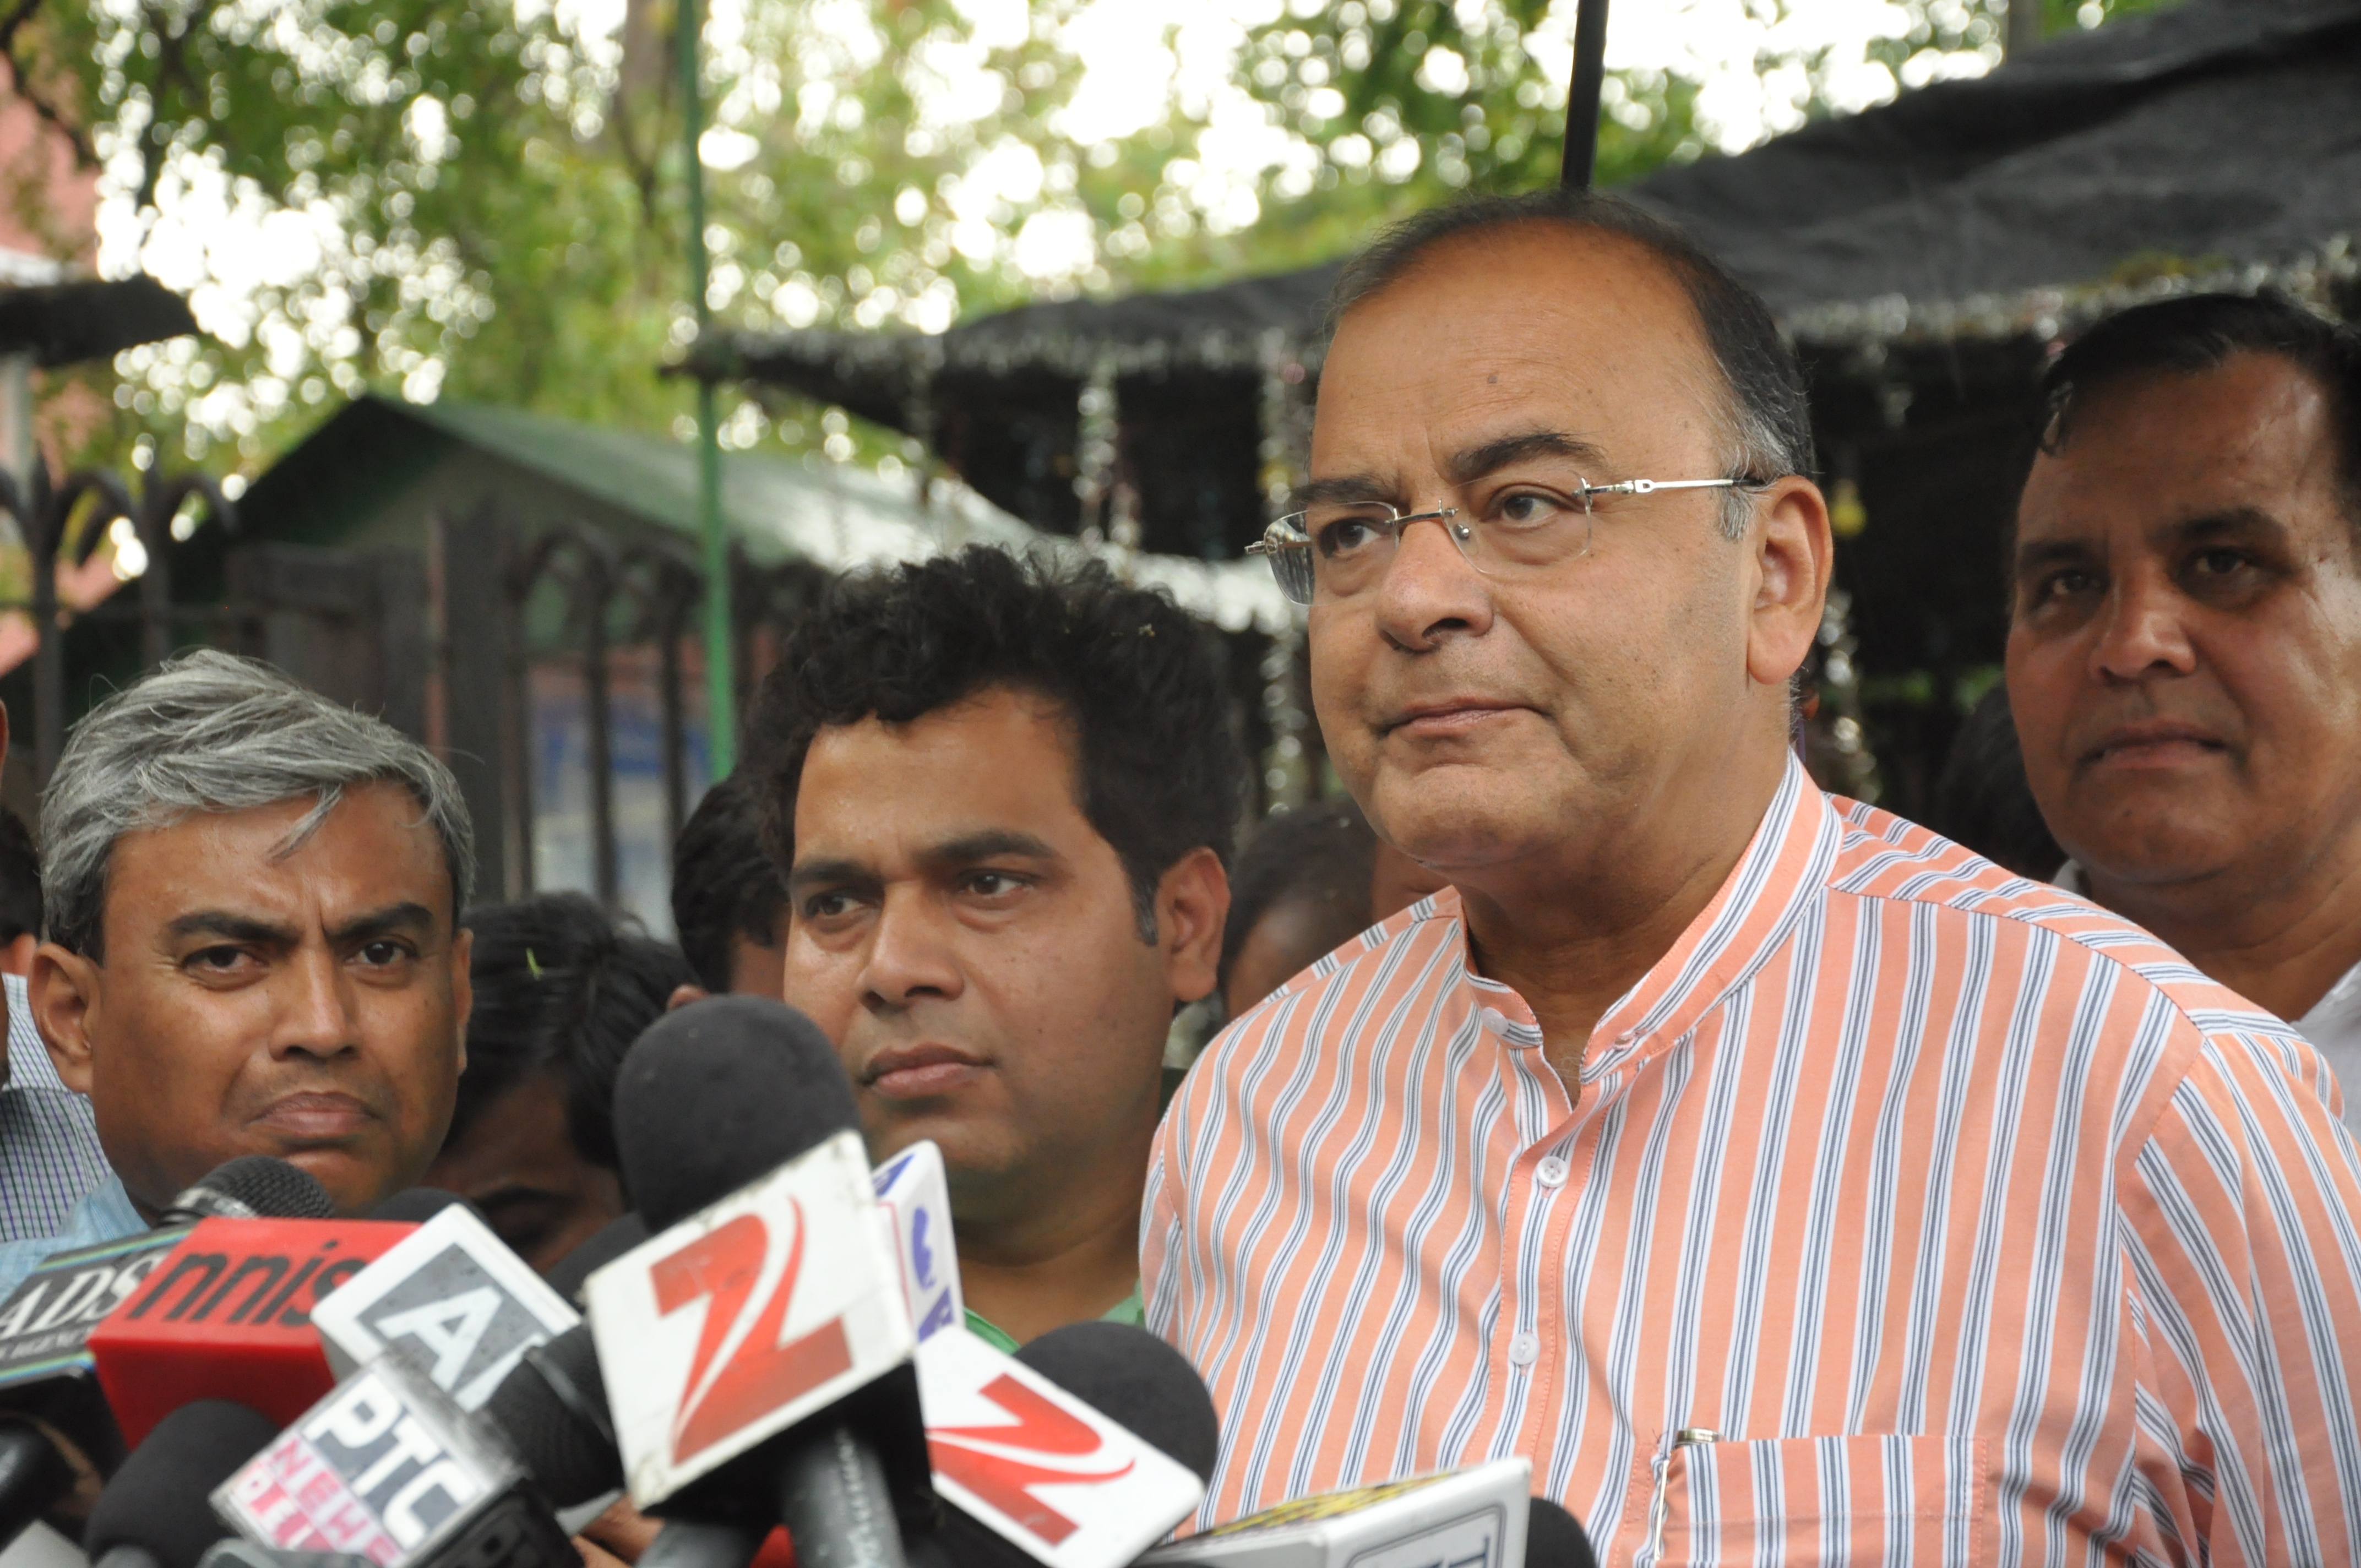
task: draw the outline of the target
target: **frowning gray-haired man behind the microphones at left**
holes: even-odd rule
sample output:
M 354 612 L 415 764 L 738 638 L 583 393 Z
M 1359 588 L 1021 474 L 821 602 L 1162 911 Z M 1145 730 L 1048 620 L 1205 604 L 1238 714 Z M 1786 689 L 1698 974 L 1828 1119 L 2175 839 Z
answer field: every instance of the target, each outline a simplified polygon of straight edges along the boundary
M 347 1214 L 416 1181 L 465 1063 L 472 864 L 442 763 L 267 666 L 189 654 L 92 711 L 42 798 L 31 999 L 116 1176 L 0 1247 L 0 1292 L 236 1155 Z

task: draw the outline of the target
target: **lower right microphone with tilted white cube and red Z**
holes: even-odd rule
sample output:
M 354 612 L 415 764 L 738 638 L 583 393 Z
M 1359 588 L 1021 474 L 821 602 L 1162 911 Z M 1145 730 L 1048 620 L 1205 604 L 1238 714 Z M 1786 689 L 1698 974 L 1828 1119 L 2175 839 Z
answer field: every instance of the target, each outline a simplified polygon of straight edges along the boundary
M 1070 1322 L 1003 1355 L 975 1334 L 918 1346 L 937 1547 L 966 1568 L 1124 1568 L 1197 1511 L 1218 1422 L 1204 1381 L 1147 1329 Z

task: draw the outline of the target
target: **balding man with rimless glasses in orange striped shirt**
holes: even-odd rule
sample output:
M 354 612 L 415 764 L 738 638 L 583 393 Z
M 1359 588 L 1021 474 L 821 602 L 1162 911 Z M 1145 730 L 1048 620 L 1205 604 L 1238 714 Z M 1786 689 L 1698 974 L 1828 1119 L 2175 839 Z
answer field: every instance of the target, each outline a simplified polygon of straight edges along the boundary
M 1608 1563 L 2361 1556 L 2311 1048 L 1804 775 L 1830 534 L 1761 300 L 1554 191 L 1412 220 L 1332 319 L 1261 550 L 1329 756 L 1452 886 L 1159 1133 L 1204 1518 L 1525 1455 Z

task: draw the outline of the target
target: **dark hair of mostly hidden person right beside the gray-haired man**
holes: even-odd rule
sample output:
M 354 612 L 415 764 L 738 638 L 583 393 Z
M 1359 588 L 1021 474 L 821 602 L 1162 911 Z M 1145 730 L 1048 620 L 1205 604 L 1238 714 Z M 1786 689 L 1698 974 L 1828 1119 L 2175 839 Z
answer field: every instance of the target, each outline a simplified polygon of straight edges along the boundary
M 616 921 L 581 893 L 541 893 L 467 912 L 467 1070 L 458 1074 L 451 1138 L 534 1072 L 567 1091 L 574 1150 L 616 1169 L 614 1077 L 673 989 L 696 980 L 666 942 Z

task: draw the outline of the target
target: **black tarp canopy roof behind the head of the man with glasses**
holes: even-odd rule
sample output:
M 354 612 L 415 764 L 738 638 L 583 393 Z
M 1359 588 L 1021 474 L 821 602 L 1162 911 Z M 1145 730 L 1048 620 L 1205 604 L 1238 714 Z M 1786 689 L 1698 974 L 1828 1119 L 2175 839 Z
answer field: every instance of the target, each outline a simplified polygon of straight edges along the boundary
M 2151 272 L 2335 286 L 2361 231 L 2361 0 L 2189 0 L 1624 194 L 1806 342 L 2014 335 Z M 701 361 L 907 430 L 940 378 L 1072 385 L 1107 349 L 1126 373 L 1251 368 L 1268 333 L 1317 338 L 1332 281 L 1027 305 L 940 338 L 737 333 Z

